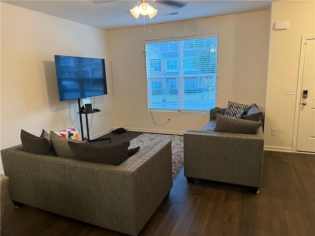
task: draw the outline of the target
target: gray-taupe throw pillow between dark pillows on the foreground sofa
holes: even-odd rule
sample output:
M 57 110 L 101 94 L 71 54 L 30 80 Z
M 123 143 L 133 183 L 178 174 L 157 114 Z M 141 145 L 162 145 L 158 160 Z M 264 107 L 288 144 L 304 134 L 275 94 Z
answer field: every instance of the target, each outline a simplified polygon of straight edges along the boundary
M 65 139 L 58 136 L 54 131 L 50 131 L 50 141 L 57 153 L 57 156 L 75 159 L 71 149 L 68 146 L 68 142 L 74 142 L 77 144 L 88 144 L 88 141 Z

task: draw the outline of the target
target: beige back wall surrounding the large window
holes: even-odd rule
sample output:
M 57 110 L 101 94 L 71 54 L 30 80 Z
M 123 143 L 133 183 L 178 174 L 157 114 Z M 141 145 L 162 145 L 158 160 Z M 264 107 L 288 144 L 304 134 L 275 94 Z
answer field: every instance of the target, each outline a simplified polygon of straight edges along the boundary
M 144 27 L 109 31 L 116 126 L 182 134 L 209 121 L 209 114 L 153 112 L 158 124 L 171 118 L 164 126 L 153 123 L 147 106 L 144 39 L 218 33 L 217 106 L 226 107 L 230 100 L 256 103 L 264 111 L 269 10 L 151 25 L 151 35 L 148 29 L 146 34 Z

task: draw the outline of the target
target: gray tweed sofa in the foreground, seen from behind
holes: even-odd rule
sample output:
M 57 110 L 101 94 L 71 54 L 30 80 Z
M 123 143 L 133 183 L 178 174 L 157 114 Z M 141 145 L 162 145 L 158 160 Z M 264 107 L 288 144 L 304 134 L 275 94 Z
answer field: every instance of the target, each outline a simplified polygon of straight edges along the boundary
M 157 139 L 119 166 L 1 150 L 9 198 L 136 236 L 172 187 L 171 141 Z

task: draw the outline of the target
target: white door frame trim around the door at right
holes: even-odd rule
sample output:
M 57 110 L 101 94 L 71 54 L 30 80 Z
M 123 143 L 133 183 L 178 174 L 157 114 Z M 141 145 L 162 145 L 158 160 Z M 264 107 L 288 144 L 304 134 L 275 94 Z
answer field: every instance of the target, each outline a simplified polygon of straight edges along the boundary
M 296 150 L 296 144 L 297 144 L 297 128 L 298 128 L 299 116 L 300 116 L 300 102 L 301 102 L 301 92 L 302 92 L 305 45 L 306 45 L 307 40 L 312 40 L 312 39 L 315 40 L 315 35 L 302 36 L 302 40 L 301 40 L 300 63 L 299 63 L 299 73 L 298 73 L 298 79 L 297 79 L 296 101 L 295 101 L 295 117 L 294 117 L 294 125 L 293 125 L 292 152 L 301 152 L 301 151 Z

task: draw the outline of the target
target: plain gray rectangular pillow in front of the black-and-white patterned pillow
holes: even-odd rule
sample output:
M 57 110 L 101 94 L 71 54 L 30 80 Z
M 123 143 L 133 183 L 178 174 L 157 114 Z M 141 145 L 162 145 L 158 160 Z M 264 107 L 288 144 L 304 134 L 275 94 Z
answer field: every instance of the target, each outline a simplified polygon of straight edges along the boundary
M 218 114 L 214 131 L 239 134 L 256 134 L 258 128 L 261 125 L 262 122 L 260 121 L 229 118 Z

